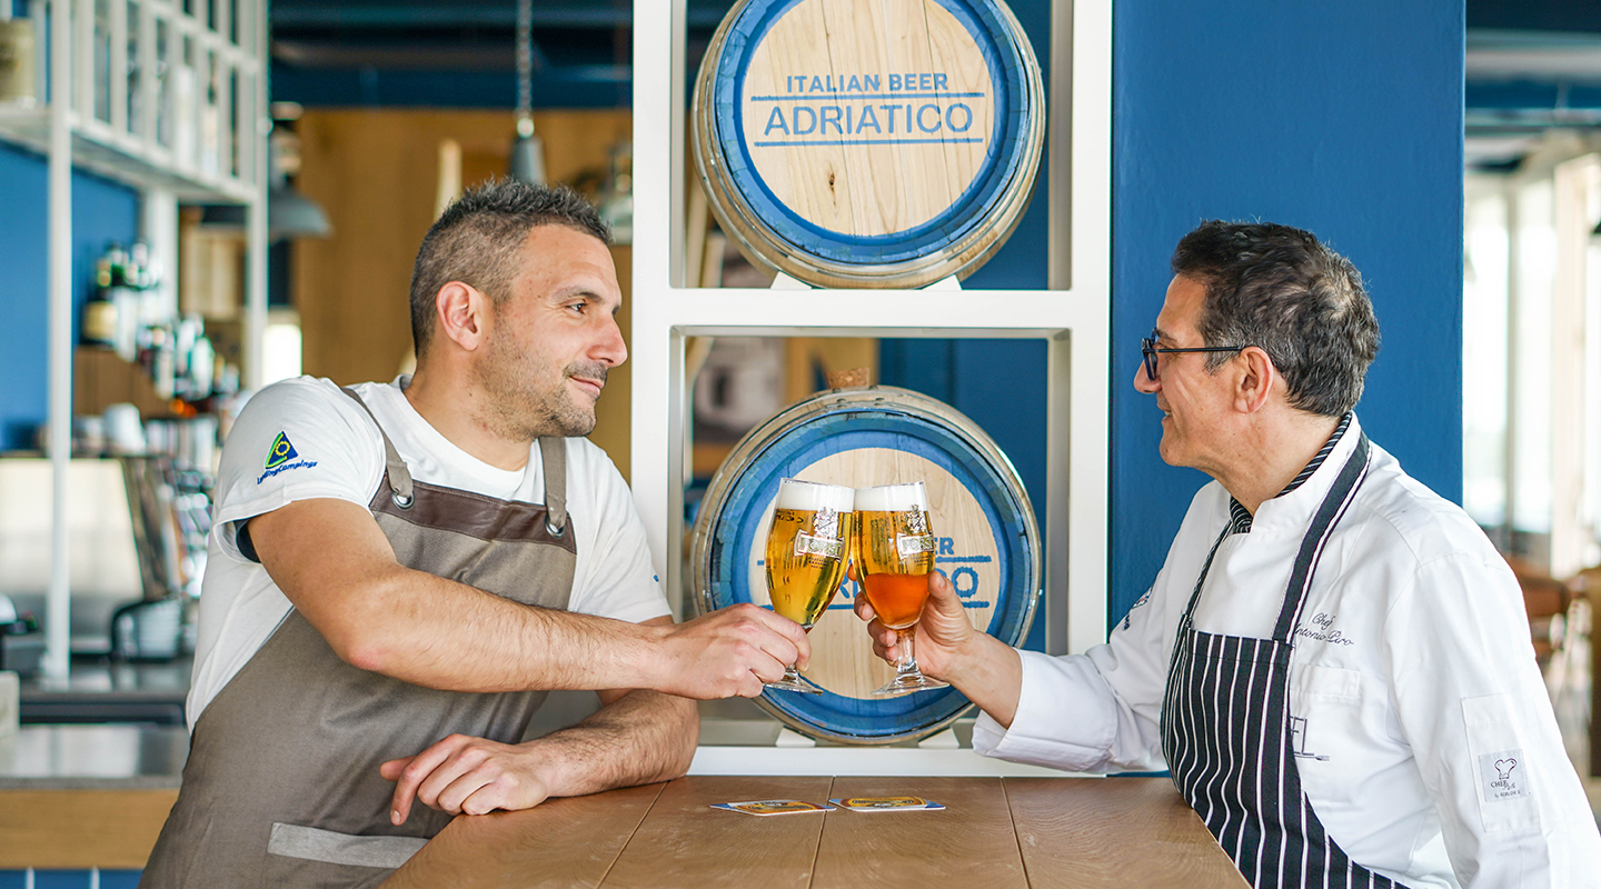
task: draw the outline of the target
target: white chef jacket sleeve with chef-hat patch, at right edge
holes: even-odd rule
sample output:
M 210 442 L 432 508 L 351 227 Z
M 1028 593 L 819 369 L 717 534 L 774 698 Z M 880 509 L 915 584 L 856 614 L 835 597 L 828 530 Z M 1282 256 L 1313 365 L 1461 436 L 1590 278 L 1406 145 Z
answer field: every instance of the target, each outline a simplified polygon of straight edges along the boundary
M 1507 564 L 1494 553 L 1422 564 L 1385 648 L 1399 729 L 1462 886 L 1601 886 L 1601 836 Z

